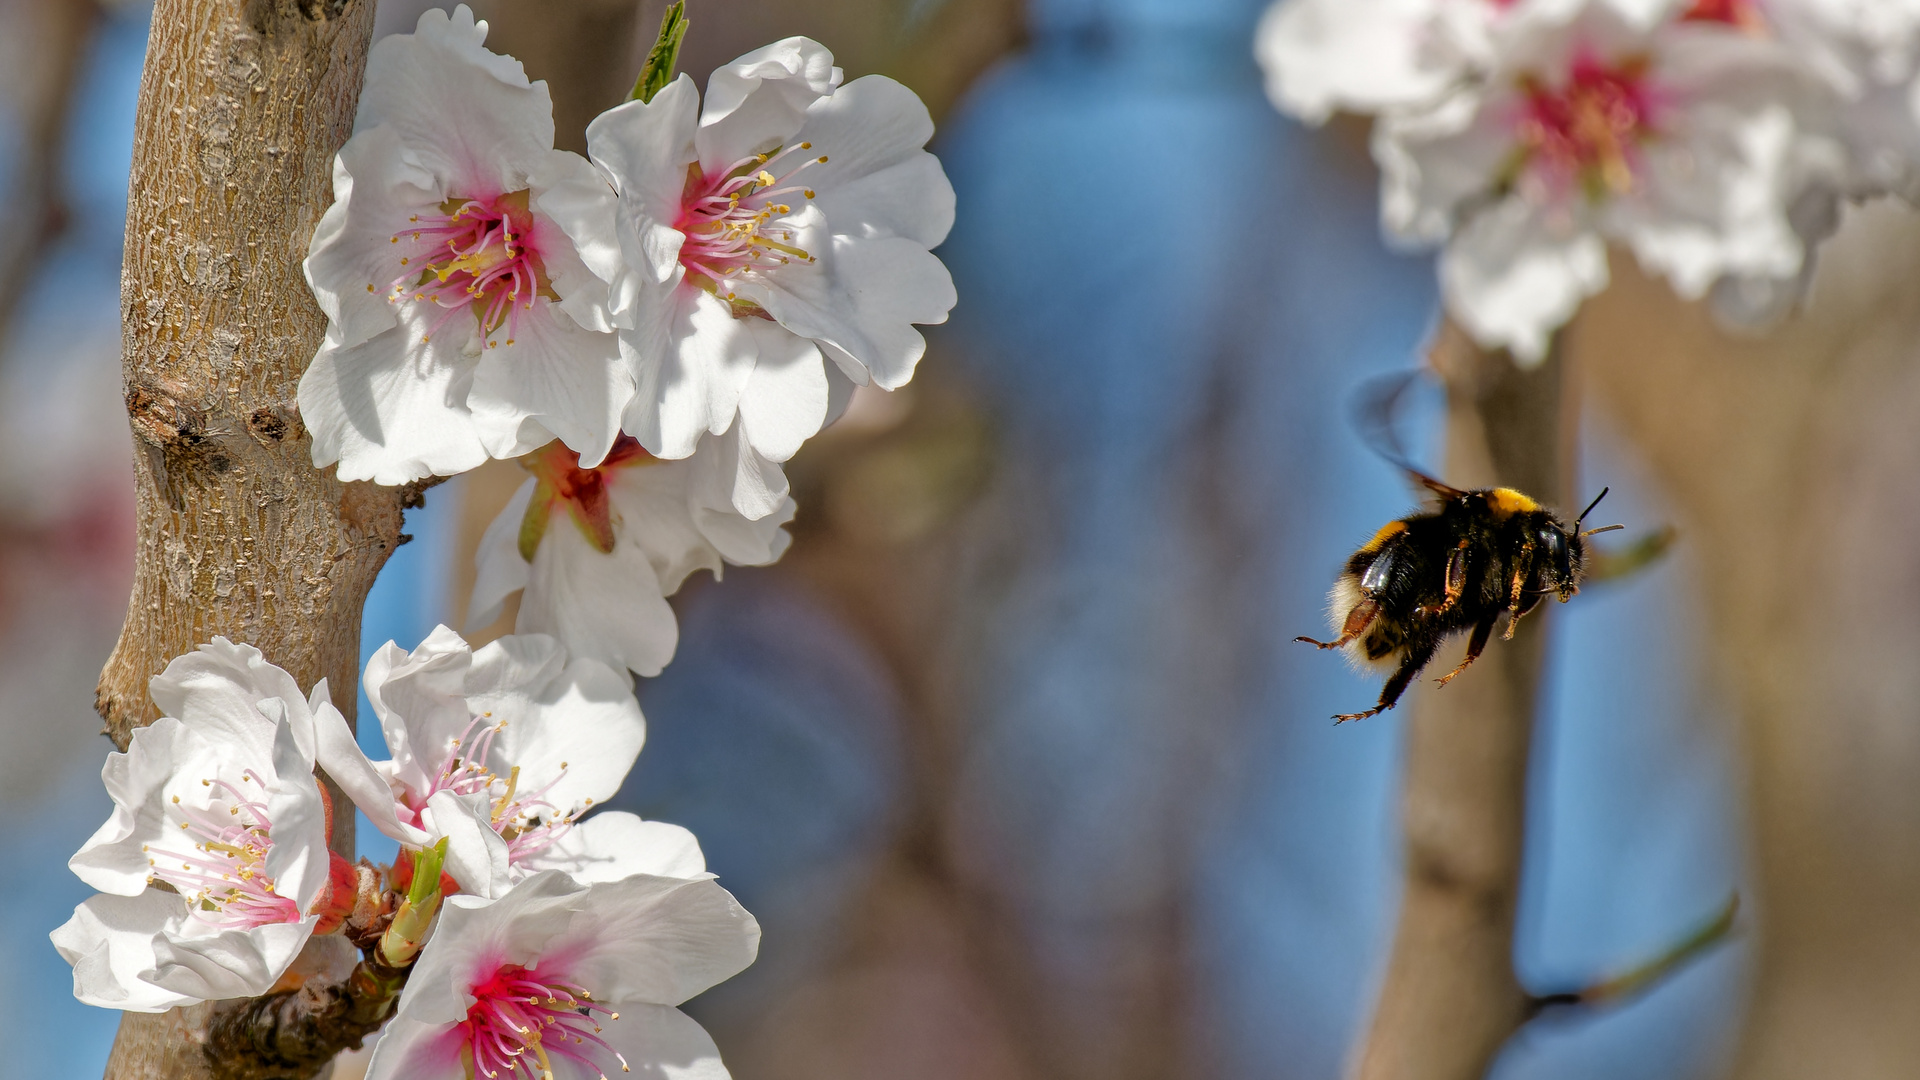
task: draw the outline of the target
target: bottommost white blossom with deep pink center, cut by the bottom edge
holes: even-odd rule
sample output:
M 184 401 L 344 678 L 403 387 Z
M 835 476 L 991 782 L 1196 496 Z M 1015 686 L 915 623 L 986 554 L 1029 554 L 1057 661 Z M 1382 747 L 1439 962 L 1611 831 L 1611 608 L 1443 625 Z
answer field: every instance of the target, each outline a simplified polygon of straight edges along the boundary
M 724 1080 L 720 1051 L 674 1005 L 737 974 L 758 942 L 697 849 L 616 882 L 547 871 L 492 903 L 455 896 L 367 1076 Z

